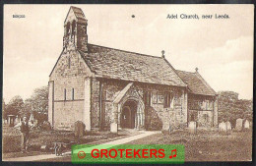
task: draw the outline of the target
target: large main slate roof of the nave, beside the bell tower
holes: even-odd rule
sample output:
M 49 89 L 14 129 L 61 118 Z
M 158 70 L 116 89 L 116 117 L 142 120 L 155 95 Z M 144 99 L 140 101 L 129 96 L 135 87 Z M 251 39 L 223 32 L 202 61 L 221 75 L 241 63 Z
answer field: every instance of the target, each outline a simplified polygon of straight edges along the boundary
M 168 61 L 161 57 L 94 44 L 88 44 L 88 53 L 80 53 L 98 78 L 187 86 Z

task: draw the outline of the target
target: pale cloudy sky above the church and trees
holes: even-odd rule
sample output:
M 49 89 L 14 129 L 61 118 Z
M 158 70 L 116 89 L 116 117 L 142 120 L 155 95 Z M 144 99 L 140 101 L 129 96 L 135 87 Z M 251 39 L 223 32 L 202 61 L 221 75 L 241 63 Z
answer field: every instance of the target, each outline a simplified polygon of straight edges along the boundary
M 253 5 L 74 5 L 88 19 L 89 42 L 165 58 L 199 73 L 216 90 L 253 94 Z M 5 5 L 3 97 L 29 98 L 48 84 L 62 51 L 70 5 Z M 166 19 L 168 14 L 227 14 L 223 20 Z M 25 15 L 16 19 L 13 15 Z M 135 18 L 131 16 L 135 15 Z

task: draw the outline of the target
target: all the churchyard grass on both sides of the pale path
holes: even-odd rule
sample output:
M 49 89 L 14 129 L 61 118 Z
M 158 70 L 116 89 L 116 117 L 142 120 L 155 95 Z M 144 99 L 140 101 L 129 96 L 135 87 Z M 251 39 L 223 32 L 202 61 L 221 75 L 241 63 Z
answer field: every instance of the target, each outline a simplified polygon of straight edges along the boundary
M 3 140 L 6 133 L 3 131 Z M 65 131 L 32 131 L 31 145 L 42 145 L 53 141 L 76 140 L 77 144 L 98 143 L 109 139 L 128 137 L 128 135 L 113 135 L 109 132 L 92 132 L 75 139 L 73 132 Z M 3 145 L 15 143 L 3 143 Z M 170 135 L 155 134 L 147 138 L 140 138 L 126 144 L 184 144 L 185 161 L 250 161 L 252 159 L 252 131 L 231 132 L 230 135 L 219 135 L 213 131 L 199 131 L 197 135 L 191 135 L 186 131 L 176 131 Z M 69 149 L 70 150 L 70 149 Z M 36 155 L 44 152 L 32 150 L 28 154 L 21 152 L 5 152 L 3 157 L 19 157 L 24 155 Z M 71 156 L 64 156 L 45 161 L 71 161 Z

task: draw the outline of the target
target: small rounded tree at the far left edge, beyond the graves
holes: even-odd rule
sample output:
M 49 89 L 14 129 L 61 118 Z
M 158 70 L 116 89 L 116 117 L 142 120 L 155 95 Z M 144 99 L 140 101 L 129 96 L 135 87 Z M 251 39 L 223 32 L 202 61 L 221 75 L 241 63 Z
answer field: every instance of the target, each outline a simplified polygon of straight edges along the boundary
M 4 118 L 7 118 L 7 115 L 20 115 L 23 109 L 23 98 L 20 95 L 14 96 L 5 107 Z

